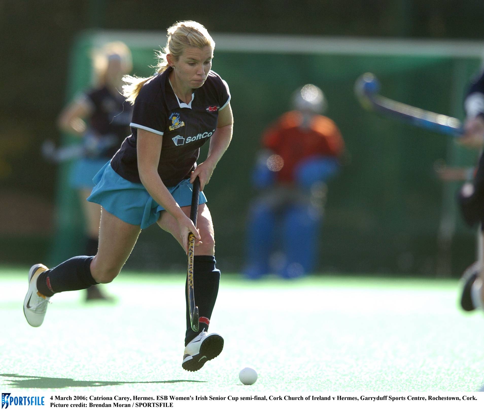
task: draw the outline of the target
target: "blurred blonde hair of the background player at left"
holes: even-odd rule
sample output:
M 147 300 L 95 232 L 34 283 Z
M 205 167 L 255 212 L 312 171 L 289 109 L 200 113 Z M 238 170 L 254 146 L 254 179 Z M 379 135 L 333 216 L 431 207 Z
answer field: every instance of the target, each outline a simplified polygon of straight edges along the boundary
M 92 68 L 94 70 L 95 82 L 98 85 L 106 84 L 106 71 L 109 59 L 119 57 L 121 69 L 124 74 L 128 74 L 133 69 L 131 51 L 123 42 L 115 41 L 106 43 L 101 48 L 92 51 Z

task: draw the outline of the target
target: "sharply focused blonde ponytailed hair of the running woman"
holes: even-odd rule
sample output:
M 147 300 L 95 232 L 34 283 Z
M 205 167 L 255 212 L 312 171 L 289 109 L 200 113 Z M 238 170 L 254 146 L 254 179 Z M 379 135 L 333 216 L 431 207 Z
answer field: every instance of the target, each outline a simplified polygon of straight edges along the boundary
M 173 56 L 175 61 L 178 61 L 181 54 L 187 47 L 203 48 L 211 46 L 215 48 L 215 42 L 210 36 L 205 27 L 196 21 L 180 21 L 168 30 L 166 37 L 168 40 L 163 50 L 156 51 L 156 58 L 158 63 L 154 68 L 156 72 L 154 75 L 163 73 L 168 68 L 168 61 L 166 61 L 166 54 Z M 151 77 L 136 77 L 136 76 L 124 76 L 122 79 L 126 83 L 122 86 L 122 94 L 131 104 L 135 104 L 136 97 L 139 90 L 143 87 L 144 83 Z

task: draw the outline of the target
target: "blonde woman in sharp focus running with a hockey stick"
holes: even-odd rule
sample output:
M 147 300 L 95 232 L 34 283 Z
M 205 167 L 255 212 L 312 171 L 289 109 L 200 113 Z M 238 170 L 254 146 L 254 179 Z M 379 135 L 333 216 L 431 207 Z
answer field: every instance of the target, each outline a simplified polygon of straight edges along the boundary
M 96 185 L 88 198 L 102 206 L 99 249 L 95 257 L 78 256 L 53 269 L 42 264 L 30 268 L 24 314 L 31 326 L 42 324 L 55 293 L 111 282 L 120 273 L 141 229 L 157 223 L 175 237 L 185 253 L 189 232 L 197 239 L 194 288 L 199 330 L 192 330 L 186 301 L 182 367 L 199 370 L 222 351 L 222 336 L 207 334 L 220 271 L 215 265 L 212 216 L 203 192 L 197 228 L 189 217 L 192 183 L 198 177 L 203 191 L 232 138 L 228 86 L 211 70 L 214 47 L 201 24 L 179 22 L 168 29 L 157 72 L 148 78 L 123 78 L 127 83 L 124 96 L 134 104 L 132 135 L 96 174 Z M 208 140 L 208 156 L 197 165 L 200 147 Z

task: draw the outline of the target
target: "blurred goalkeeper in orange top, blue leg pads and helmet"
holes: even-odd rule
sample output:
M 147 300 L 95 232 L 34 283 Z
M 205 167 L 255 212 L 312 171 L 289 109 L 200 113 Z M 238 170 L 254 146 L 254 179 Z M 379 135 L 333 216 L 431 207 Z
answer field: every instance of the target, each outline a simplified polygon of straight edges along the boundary
M 326 182 L 337 173 L 344 151 L 338 127 L 321 115 L 327 104 L 318 87 L 307 84 L 296 90 L 292 106 L 265 131 L 264 151 L 253 174 L 261 194 L 248 216 L 243 273 L 250 279 L 270 272 L 294 278 L 314 271 Z M 276 246 L 283 249 L 279 256 L 273 253 Z

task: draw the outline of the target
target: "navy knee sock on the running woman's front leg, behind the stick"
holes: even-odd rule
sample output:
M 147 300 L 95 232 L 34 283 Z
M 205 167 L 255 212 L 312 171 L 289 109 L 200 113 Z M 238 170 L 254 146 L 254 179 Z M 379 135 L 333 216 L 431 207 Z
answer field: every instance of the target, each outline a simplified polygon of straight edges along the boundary
M 198 332 L 192 330 L 190 324 L 190 308 L 188 306 L 188 280 L 185 283 L 186 301 L 186 334 L 185 346 L 197 334 L 207 331 L 210 318 L 212 317 L 213 306 L 217 299 L 218 285 L 220 282 L 220 271 L 215 268 L 215 257 L 209 255 L 198 255 L 193 258 L 193 288 L 195 291 L 195 305 L 198 306 L 199 328 Z

